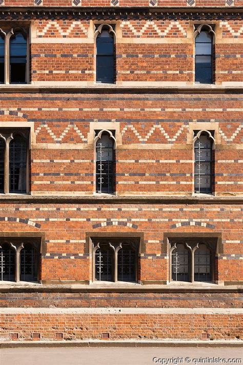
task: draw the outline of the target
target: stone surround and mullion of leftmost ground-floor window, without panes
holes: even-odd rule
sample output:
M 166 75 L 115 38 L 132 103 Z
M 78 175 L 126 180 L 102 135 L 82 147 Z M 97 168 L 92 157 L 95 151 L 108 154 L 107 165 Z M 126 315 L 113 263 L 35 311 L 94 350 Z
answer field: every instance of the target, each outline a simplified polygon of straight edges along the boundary
M 11 243 L 11 239 L 13 243 Z M 27 239 L 33 240 L 35 248 L 38 249 L 37 254 L 42 254 L 44 243 L 45 243 L 45 234 L 44 233 L 33 233 L 33 232 L 3 232 L 0 233 L 0 240 L 6 241 L 10 243 L 10 245 L 14 248 L 15 251 L 15 282 L 19 283 L 20 281 L 20 253 L 24 248 L 24 240 Z M 38 261 L 39 270 L 38 270 L 38 282 L 40 282 L 40 259 Z M 9 285 L 12 285 L 14 282 L 9 282 Z M 1 285 L 0 281 L 0 285 Z

